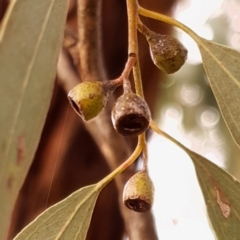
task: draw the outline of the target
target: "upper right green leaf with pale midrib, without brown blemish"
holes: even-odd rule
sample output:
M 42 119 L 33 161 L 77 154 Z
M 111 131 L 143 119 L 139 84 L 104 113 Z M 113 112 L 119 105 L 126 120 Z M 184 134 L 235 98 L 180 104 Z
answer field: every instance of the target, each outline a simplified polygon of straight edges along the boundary
M 219 109 L 240 147 L 240 52 L 200 37 L 197 43 Z

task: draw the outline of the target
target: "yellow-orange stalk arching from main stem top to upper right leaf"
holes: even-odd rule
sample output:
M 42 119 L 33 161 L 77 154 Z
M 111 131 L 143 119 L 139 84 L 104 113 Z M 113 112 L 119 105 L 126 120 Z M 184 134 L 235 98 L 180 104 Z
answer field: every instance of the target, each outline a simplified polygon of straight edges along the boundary
M 156 12 L 147 10 L 140 6 L 138 6 L 138 13 L 141 14 L 142 16 L 153 18 L 153 19 L 171 24 L 175 27 L 178 27 L 178 28 L 182 29 L 184 32 L 186 32 L 187 34 L 189 34 L 198 44 L 200 43 L 200 41 L 199 41 L 200 37 L 192 29 L 190 29 L 189 27 L 187 27 L 186 25 L 182 24 L 181 22 L 177 21 L 174 18 L 168 17 L 161 13 L 156 13 Z

